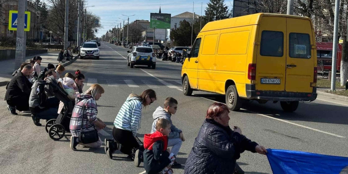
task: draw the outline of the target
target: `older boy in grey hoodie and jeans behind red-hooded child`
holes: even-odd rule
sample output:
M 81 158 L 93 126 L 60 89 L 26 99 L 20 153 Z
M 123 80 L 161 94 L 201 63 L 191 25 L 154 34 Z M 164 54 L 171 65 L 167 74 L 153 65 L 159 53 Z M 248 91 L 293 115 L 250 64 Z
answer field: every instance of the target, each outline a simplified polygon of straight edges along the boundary
M 168 97 L 164 101 L 164 108 L 161 106 L 158 106 L 155 112 L 153 112 L 153 123 L 152 123 L 152 130 L 151 134 L 156 132 L 156 124 L 157 120 L 164 118 L 166 120 L 169 120 L 171 123 L 171 133 L 168 135 L 168 147 L 172 147 L 171 152 L 174 153 L 175 157 L 177 156 L 177 153 L 179 153 L 179 150 L 181 148 L 181 144 L 183 141 L 185 141 L 184 135 L 182 133 L 182 130 L 176 128 L 173 125 L 172 122 L 172 115 L 176 113 L 177 110 L 177 101 L 173 97 Z M 172 168 L 181 168 L 181 164 L 174 162 Z

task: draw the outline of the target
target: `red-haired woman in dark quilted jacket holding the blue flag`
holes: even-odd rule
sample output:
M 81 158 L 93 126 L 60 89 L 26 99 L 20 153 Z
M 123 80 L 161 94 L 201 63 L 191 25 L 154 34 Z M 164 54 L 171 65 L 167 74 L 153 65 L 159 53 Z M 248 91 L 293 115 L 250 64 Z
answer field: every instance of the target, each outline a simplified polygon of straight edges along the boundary
M 228 113 L 222 103 L 209 107 L 186 160 L 185 174 L 232 174 L 236 160 L 245 150 L 266 155 L 267 150 L 242 135 L 239 127 L 229 127 Z

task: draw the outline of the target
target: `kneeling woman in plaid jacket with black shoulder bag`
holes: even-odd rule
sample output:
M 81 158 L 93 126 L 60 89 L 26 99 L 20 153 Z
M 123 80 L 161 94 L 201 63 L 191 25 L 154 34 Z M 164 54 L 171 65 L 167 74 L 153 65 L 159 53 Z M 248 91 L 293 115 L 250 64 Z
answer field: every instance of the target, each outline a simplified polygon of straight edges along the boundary
M 76 104 L 70 120 L 70 132 L 72 134 L 70 148 L 72 150 L 76 150 L 78 144 L 88 148 L 101 147 L 102 141 L 98 137 L 96 130 L 99 132 L 106 125 L 101 119 L 97 118 L 98 110 L 96 101 L 99 100 L 103 93 L 103 87 L 93 84 L 85 93 L 79 94 L 76 97 Z M 92 133 L 88 134 L 92 136 L 84 136 L 81 139 L 80 135 L 87 133 Z M 87 137 L 89 139 L 86 139 Z

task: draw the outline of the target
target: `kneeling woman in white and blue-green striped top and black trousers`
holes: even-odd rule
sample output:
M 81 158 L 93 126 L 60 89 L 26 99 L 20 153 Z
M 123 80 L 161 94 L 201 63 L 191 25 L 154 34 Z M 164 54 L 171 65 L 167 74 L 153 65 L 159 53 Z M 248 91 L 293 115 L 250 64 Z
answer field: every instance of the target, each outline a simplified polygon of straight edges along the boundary
M 140 147 L 135 136 L 140 128 L 141 111 L 144 106 L 150 105 L 156 99 L 156 92 L 152 89 L 144 90 L 140 96 L 136 94 L 128 96 L 113 122 L 114 140 L 104 140 L 106 155 L 112 158 L 112 153 L 120 150 L 134 159 L 135 151 Z

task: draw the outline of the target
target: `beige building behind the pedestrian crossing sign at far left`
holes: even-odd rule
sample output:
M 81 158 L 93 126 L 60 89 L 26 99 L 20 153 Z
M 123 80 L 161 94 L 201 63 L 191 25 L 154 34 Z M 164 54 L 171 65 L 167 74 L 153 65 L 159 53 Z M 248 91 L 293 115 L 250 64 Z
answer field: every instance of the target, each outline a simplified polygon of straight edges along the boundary
M 39 39 L 42 39 L 43 35 L 42 24 L 40 23 L 41 14 L 32 2 L 28 1 L 27 5 L 28 6 L 26 11 L 30 11 L 30 31 L 26 32 L 26 38 L 38 41 Z M 10 10 L 18 9 L 18 1 L 5 1 L 2 4 L 2 7 L 5 10 L 1 12 L 4 15 L 4 18 L 0 18 L 0 34 L 6 34 L 8 36 L 16 37 L 16 31 L 8 30 L 8 19 Z

